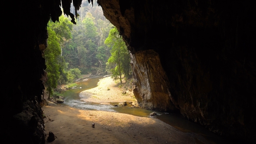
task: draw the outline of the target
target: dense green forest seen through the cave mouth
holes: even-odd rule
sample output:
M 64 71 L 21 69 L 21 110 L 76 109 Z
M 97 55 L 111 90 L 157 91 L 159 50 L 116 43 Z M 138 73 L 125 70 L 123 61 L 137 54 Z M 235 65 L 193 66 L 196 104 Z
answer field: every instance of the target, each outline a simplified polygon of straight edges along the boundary
M 75 10 L 71 7 L 71 12 Z M 131 76 L 130 54 L 118 30 L 103 16 L 101 7 L 82 1 L 76 24 L 64 14 L 47 26 L 46 76 L 49 96 L 57 85 L 73 83 L 83 74 Z

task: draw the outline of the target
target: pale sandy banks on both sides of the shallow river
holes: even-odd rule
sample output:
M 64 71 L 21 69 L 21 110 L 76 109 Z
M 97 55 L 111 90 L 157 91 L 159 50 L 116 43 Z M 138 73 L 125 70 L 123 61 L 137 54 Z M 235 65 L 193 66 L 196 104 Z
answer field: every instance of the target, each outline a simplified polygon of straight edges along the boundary
M 109 90 L 107 90 L 109 89 Z M 86 90 L 85 101 L 136 101 L 132 92 L 122 90 L 110 77 Z M 52 131 L 56 140 L 48 144 L 208 144 L 202 136 L 184 133 L 156 119 L 108 111 L 90 111 L 69 106 L 43 106 L 46 134 Z M 95 123 L 95 128 L 92 128 Z

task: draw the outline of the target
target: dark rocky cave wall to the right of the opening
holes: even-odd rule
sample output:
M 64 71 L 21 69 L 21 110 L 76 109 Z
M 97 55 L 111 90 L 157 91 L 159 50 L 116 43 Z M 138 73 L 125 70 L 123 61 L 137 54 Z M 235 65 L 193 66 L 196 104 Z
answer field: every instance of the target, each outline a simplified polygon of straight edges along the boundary
M 131 51 L 134 94 L 255 141 L 256 10 L 239 0 L 98 0 Z M 173 107 L 175 105 L 175 108 Z

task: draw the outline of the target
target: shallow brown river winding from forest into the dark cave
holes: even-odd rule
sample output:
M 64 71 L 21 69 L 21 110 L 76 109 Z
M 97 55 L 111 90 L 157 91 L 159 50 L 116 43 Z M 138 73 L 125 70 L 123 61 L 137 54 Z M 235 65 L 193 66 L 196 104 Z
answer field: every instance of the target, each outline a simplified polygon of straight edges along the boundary
M 61 93 L 65 97 L 64 104 L 62 105 L 69 105 L 71 107 L 83 110 L 113 111 L 140 117 L 158 118 L 161 121 L 170 124 L 174 128 L 179 129 L 180 131 L 201 134 L 212 144 L 229 144 L 229 142 L 224 140 L 222 137 L 217 136 L 213 132 L 208 131 L 206 128 L 203 128 L 202 126 L 194 122 L 188 121 L 187 119 L 183 118 L 182 115 L 180 114 L 166 113 L 163 111 L 152 111 L 142 108 L 131 108 L 129 105 L 124 107 L 113 106 L 114 104 L 118 103 L 110 103 L 109 105 L 106 105 L 101 103 L 85 102 L 80 100 L 79 93 L 86 89 L 96 87 L 98 81 L 102 78 L 102 76 L 90 77 L 86 81 L 77 82 L 78 88 L 62 91 Z M 158 115 L 151 117 L 149 115 L 151 112 L 156 112 Z

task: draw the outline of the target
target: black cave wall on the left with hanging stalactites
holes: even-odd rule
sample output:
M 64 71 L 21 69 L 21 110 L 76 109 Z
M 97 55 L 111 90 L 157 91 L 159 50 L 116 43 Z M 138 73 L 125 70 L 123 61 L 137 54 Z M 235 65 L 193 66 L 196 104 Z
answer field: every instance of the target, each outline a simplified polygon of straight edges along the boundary
M 63 4 L 65 3 L 66 4 Z M 79 5 L 76 0 L 75 6 Z M 1 143 L 44 144 L 43 112 L 40 107 L 46 69 L 48 21 L 58 21 L 61 0 L 2 2 L 1 39 Z M 70 13 L 70 0 L 62 0 Z

